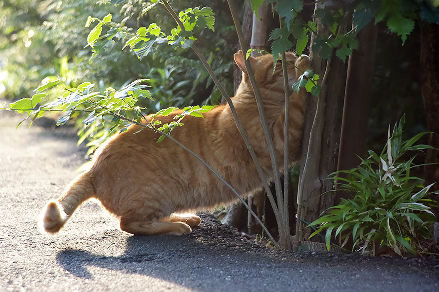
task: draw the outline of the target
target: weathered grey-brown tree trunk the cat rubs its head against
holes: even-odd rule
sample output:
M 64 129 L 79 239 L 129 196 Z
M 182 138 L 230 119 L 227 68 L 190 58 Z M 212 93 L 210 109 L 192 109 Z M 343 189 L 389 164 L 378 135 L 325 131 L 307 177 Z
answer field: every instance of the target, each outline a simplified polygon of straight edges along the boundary
M 323 33 L 323 29 L 318 20 L 319 34 Z M 306 223 L 317 219 L 321 212 L 334 205 L 334 195 L 324 193 L 332 189 L 333 183 L 326 178 L 337 166 L 340 112 L 346 81 L 346 64 L 335 53 L 331 57 L 330 68 L 326 68 L 326 61 L 313 56 L 311 49 L 310 55 L 314 72 L 326 75 L 326 80 L 323 77 L 318 100 L 310 97 L 307 104 L 297 196 L 296 244 L 306 240 L 313 231 L 306 228 Z M 315 119 L 316 109 L 319 112 Z M 310 133 L 311 128 L 313 133 Z M 310 139 L 312 143 L 309 143 Z

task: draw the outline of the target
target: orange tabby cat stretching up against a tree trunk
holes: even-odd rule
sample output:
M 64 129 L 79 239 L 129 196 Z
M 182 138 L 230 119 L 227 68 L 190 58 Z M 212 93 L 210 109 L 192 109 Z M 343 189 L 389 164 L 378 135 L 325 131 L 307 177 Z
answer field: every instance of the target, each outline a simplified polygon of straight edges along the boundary
M 266 176 L 273 179 L 268 147 L 244 57 L 241 51 L 234 57 L 243 73 L 241 84 L 232 98 L 233 104 Z M 288 53 L 286 58 L 301 71 L 309 68 L 307 56 L 297 58 Z M 259 84 L 278 165 L 283 165 L 285 112 L 282 69 L 277 66 L 273 73 L 272 55 L 249 59 Z M 300 74 L 294 66 L 288 66 L 290 86 Z M 291 163 L 297 162 L 300 157 L 305 97 L 303 90 L 299 94 L 294 92 L 290 97 Z M 169 123 L 180 112 L 176 110 L 156 119 Z M 262 183 L 229 106 L 218 106 L 203 115 L 204 119 L 185 117 L 184 126 L 175 128 L 172 136 L 203 158 L 242 197 L 252 195 Z M 152 130 L 138 132 L 140 128 L 131 126 L 102 144 L 94 154 L 92 166 L 70 183 L 57 201 L 47 203 L 40 219 L 40 226 L 45 232 L 58 232 L 80 203 L 89 198 L 98 199 L 108 211 L 120 218 L 123 231 L 135 235 L 188 234 L 191 227 L 200 224 L 200 217 L 180 212 L 236 201 L 235 194 L 195 157 L 169 139 L 156 143 L 160 134 Z

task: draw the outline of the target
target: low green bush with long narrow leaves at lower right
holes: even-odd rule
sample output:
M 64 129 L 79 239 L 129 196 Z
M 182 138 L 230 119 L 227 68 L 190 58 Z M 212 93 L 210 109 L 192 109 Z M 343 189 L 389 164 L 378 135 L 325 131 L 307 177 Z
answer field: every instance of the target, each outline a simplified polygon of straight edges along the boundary
M 351 194 L 352 199 L 342 199 L 308 225 L 319 225 L 310 237 L 326 230 L 328 250 L 332 236 L 339 238 L 341 247 L 352 237 L 352 250 L 359 247 L 363 253 L 372 248 L 375 254 L 383 245 L 399 256 L 424 250 L 422 239 L 431 236 L 429 226 L 435 219 L 430 209 L 436 202 L 429 199 L 433 184 L 424 186 L 422 179 L 411 176 L 412 168 L 417 167 L 413 164 L 416 155 L 404 158 L 407 151 L 433 147 L 415 145 L 425 132 L 402 142 L 403 125 L 404 116 L 392 134 L 389 127 L 387 144 L 379 155 L 369 151 L 358 167 L 332 174 L 338 191 Z

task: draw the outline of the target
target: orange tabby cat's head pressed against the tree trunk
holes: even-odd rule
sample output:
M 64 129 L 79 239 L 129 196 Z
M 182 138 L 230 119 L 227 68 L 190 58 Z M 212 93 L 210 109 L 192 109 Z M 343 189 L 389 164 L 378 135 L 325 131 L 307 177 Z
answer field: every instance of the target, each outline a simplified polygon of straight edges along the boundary
M 298 58 L 294 53 L 290 52 L 287 52 L 285 57 L 288 65 L 288 83 L 291 88 L 293 83 L 297 81 L 297 77 L 310 67 L 310 60 L 306 55 L 302 55 Z M 238 51 L 235 53 L 234 58 L 236 64 L 242 71 L 242 82 L 239 87 L 243 87 L 242 89 L 251 87 L 247 69 L 245 67 L 244 54 L 242 51 Z M 248 60 L 250 61 L 256 82 L 261 90 L 284 90 L 282 66 L 278 62 L 276 69 L 274 69 L 273 55 L 262 55 L 256 58 L 249 56 Z

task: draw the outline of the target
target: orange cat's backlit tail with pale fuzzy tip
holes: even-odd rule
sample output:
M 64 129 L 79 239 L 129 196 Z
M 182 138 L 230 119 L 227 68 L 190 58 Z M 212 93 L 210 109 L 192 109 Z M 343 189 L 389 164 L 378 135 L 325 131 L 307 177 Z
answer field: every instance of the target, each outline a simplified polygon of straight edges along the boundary
M 40 229 L 46 233 L 57 233 L 75 209 L 94 195 L 93 180 L 85 172 L 71 182 L 56 201 L 49 201 L 41 212 Z

